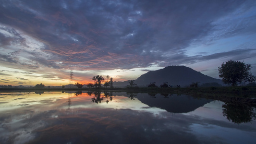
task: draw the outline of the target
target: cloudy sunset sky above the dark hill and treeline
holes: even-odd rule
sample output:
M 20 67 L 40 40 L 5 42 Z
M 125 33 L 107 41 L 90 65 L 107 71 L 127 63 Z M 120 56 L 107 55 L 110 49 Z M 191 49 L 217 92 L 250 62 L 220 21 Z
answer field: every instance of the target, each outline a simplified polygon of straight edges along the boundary
M 114 81 L 170 65 L 256 75 L 256 0 L 0 0 L 0 85 Z

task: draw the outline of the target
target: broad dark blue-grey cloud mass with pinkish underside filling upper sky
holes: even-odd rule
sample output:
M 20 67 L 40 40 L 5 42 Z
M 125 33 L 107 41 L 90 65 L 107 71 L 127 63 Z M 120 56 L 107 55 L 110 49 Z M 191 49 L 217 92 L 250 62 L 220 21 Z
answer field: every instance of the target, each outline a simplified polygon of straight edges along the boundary
M 32 55 L 29 60 L 55 69 L 131 69 L 170 61 L 195 63 L 236 54 L 188 56 L 185 51 L 192 42 L 207 44 L 222 37 L 255 33 L 255 21 L 250 21 L 253 15 L 232 24 L 218 21 L 237 9 L 243 12 L 253 6 L 254 0 L 2 1 L 0 24 L 9 26 L 1 26 L 5 33 L 0 33 L 0 45 L 16 42 L 26 48 L 27 38 L 19 32 L 23 31 L 43 43 L 25 50 Z M 18 63 L 16 55 L 1 54 L 0 60 Z M 23 64 L 37 68 L 28 61 Z

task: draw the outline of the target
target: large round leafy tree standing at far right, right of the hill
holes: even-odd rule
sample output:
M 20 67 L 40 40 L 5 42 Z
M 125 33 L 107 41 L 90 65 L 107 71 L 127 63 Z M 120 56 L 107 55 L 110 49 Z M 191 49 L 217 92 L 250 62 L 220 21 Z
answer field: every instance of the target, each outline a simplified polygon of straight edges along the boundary
M 237 83 L 254 82 L 256 77 L 250 72 L 252 66 L 241 61 L 228 60 L 219 67 L 219 77 L 224 84 L 237 85 Z

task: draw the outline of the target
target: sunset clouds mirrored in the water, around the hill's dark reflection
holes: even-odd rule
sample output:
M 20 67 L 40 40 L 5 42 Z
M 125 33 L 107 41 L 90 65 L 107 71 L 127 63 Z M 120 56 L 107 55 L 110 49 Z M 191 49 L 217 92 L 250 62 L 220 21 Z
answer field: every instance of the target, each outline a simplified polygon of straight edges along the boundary
M 140 96 L 150 98 L 147 94 L 137 94 L 134 99 L 130 99 L 130 94 L 113 93 L 112 101 L 100 104 L 91 101 L 93 95 L 75 94 L 76 92 L 41 95 L 32 93 L 25 99 L 20 99 L 20 102 L 15 101 L 18 103 L 8 102 L 6 107 L 24 102 L 29 105 L 11 110 L 1 109 L 0 143 L 216 144 L 232 142 L 229 138 L 221 136 L 227 131 L 232 131 L 233 134 L 242 132 L 243 138 L 256 140 L 251 137 L 256 134 L 254 120 L 252 123 L 236 125 L 229 120 L 206 117 L 211 115 L 209 108 L 219 108 L 219 103 L 215 105 L 211 102 L 192 113 L 183 114 L 150 108 L 137 99 Z M 67 108 L 67 101 L 71 96 L 71 107 Z M 10 97 L 3 99 L 8 101 Z M 156 95 L 156 98 L 158 97 Z M 35 98 L 38 98 L 37 103 L 30 104 Z M 222 111 L 217 114 L 222 116 Z M 247 135 L 248 132 L 250 135 Z M 241 142 L 239 137 L 234 140 Z

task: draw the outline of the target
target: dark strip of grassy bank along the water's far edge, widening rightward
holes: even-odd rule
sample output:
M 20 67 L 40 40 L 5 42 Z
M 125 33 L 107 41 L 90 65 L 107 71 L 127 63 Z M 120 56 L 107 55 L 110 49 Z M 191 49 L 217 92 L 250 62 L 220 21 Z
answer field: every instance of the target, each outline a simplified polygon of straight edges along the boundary
M 197 87 L 197 88 L 2 88 L 0 92 L 19 91 L 110 91 L 110 92 L 130 92 L 148 94 L 187 94 L 198 97 L 211 98 L 224 102 L 242 102 L 256 105 L 256 87 L 232 86 L 232 87 Z M 255 98 L 255 99 L 252 99 Z

